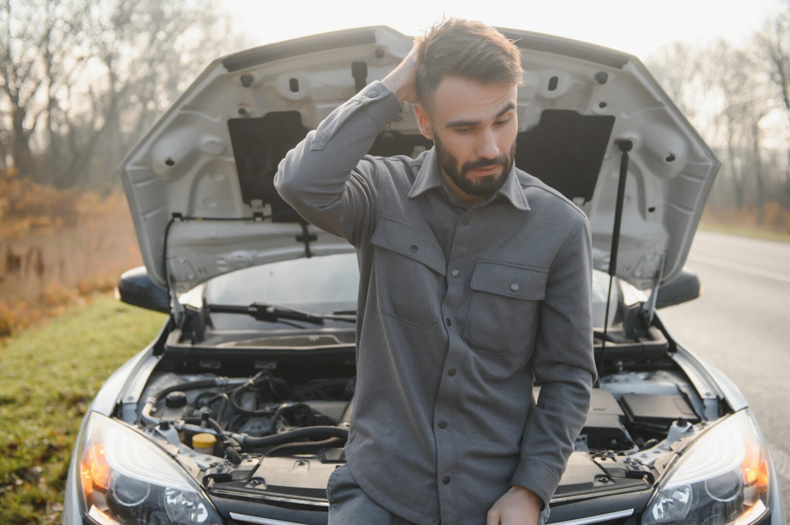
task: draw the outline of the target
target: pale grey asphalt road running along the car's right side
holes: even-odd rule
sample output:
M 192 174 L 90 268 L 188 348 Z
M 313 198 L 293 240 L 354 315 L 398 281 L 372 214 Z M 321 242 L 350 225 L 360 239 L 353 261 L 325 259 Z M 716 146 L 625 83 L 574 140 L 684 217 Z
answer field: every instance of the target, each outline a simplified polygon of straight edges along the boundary
M 790 244 L 699 231 L 702 297 L 659 311 L 668 331 L 738 385 L 768 441 L 790 516 Z

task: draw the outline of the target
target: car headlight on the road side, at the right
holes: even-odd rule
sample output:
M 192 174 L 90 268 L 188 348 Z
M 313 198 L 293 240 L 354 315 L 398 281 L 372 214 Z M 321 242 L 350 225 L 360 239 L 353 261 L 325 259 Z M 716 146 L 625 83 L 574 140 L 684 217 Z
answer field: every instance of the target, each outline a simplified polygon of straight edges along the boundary
M 753 523 L 769 508 L 768 469 L 754 419 L 747 409 L 736 412 L 680 456 L 642 523 Z

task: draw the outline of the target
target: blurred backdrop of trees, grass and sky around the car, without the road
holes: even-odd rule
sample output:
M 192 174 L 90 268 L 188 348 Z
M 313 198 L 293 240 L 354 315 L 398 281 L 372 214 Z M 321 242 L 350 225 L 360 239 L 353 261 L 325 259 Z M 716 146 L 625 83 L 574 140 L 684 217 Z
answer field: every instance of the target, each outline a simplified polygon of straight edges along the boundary
M 0 0 L 0 523 L 59 523 L 81 414 L 164 321 L 108 296 L 141 134 L 223 54 L 451 15 L 636 55 L 722 160 L 701 229 L 790 242 L 790 2 Z

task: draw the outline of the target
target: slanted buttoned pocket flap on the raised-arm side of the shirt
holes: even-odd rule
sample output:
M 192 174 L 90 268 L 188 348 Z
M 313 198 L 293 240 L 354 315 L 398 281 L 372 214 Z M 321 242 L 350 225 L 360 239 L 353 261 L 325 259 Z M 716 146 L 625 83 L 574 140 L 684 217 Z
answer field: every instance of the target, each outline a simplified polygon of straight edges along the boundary
M 380 216 L 376 230 L 371 237 L 371 243 L 425 264 L 434 272 L 441 273 L 442 276 L 447 275 L 444 250 L 438 245 L 436 239 L 395 219 Z

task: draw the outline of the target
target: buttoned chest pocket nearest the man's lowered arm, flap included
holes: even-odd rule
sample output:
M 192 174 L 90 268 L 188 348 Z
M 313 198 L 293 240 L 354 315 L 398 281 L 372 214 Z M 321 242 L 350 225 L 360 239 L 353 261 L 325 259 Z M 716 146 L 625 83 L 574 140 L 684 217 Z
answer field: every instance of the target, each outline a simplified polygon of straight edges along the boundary
M 477 261 L 464 340 L 487 354 L 521 355 L 532 347 L 548 270 Z

